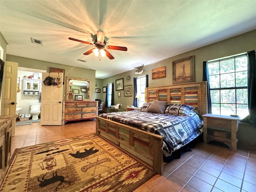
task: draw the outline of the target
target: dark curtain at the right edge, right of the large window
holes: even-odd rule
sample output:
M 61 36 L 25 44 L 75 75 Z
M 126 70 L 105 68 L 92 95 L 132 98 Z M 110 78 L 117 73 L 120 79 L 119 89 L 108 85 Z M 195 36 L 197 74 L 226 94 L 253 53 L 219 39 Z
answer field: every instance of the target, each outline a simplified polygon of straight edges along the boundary
M 255 50 L 248 54 L 248 108 L 249 115 L 241 122 L 250 123 L 256 127 L 256 55 Z

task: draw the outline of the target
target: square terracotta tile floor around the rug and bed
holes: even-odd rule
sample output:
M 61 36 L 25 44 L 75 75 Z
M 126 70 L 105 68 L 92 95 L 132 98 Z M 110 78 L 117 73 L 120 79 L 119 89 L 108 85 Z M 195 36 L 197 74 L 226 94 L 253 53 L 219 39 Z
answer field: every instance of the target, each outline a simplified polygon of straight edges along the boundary
M 15 148 L 95 133 L 96 121 L 68 122 L 63 126 L 16 126 L 12 137 Z M 255 192 L 256 145 L 237 152 L 217 145 L 198 142 L 192 152 L 164 165 L 157 174 L 134 192 Z

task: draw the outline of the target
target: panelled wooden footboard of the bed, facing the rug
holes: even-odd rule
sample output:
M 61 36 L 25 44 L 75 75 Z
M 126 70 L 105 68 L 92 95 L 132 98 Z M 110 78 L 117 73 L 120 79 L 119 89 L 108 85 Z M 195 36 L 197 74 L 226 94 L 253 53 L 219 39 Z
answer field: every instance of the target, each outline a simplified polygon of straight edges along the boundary
M 101 117 L 96 117 L 96 135 L 116 144 L 162 174 L 163 136 Z

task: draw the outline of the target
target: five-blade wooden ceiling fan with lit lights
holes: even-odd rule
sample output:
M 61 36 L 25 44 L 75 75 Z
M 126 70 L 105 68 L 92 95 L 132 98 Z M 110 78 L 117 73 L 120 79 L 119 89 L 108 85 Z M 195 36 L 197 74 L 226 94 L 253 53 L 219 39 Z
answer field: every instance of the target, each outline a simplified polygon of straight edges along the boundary
M 94 40 L 94 43 L 82 41 L 82 40 L 79 40 L 79 39 L 74 39 L 74 38 L 71 38 L 71 37 L 69 37 L 68 39 L 95 46 L 94 48 L 86 51 L 83 54 L 84 55 L 89 55 L 93 52 L 94 55 L 98 56 L 100 59 L 101 59 L 101 57 L 104 57 L 105 55 L 110 59 L 114 59 L 114 57 L 110 54 L 110 52 L 108 52 L 107 49 L 127 51 L 127 47 L 106 45 L 106 41 L 104 40 L 104 38 L 105 38 L 104 32 L 97 31 L 97 38 Z

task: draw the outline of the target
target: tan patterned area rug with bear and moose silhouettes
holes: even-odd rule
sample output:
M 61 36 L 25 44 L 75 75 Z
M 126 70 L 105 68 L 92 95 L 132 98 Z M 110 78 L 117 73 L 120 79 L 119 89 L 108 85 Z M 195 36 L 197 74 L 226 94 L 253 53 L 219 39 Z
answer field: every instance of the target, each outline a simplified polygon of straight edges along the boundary
M 131 192 L 154 172 L 95 134 L 16 149 L 0 191 Z

